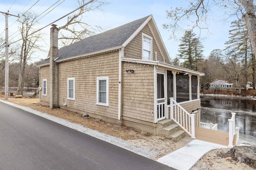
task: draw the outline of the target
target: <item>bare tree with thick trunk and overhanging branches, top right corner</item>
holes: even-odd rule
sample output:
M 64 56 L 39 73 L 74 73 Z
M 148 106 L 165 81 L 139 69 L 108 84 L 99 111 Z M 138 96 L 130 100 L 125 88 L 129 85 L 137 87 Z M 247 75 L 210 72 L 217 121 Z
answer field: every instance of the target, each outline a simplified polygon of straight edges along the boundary
M 176 8 L 174 10 L 166 11 L 167 17 L 171 22 L 164 24 L 164 28 L 172 31 L 174 35 L 177 31 L 182 30 L 182 22 L 189 20 L 191 29 L 198 28 L 208 29 L 208 14 L 211 12 L 213 6 L 221 7 L 224 11 L 223 20 L 230 16 L 237 16 L 238 20 L 242 17 L 246 23 L 254 56 L 256 56 L 256 6 L 254 0 L 194 0 L 190 1 L 186 8 Z

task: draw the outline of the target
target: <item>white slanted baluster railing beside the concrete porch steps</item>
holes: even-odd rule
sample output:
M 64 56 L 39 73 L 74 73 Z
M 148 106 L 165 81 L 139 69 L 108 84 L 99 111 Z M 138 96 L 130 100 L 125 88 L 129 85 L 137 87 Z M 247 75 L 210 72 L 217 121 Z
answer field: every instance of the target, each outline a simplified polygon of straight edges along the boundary
M 195 138 L 195 115 L 188 113 L 174 98 L 170 98 L 170 118 Z

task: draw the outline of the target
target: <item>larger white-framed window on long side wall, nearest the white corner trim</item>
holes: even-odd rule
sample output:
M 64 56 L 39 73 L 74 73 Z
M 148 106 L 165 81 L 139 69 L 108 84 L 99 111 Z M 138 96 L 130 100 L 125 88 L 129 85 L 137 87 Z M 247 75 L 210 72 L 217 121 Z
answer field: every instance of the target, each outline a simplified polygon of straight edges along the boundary
M 97 103 L 108 106 L 108 77 L 97 77 Z

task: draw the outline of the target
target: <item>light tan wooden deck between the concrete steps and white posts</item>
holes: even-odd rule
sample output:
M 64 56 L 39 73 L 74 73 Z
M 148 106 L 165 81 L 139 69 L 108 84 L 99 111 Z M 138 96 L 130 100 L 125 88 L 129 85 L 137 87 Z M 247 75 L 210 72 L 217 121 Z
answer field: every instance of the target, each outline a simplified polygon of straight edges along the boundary
M 186 136 L 189 136 L 189 135 L 186 133 Z M 228 132 L 214 131 L 210 129 L 195 127 L 195 136 L 196 136 L 196 139 L 201 141 L 228 146 Z M 233 140 L 234 146 L 236 146 L 235 142 L 236 142 L 236 135 Z

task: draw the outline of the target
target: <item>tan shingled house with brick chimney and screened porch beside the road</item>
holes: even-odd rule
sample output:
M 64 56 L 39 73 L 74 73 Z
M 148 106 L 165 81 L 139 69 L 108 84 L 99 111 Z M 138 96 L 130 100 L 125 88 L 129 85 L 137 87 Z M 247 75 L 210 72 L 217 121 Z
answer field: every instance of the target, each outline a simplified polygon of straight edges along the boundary
M 191 123 L 200 121 L 199 80 L 204 74 L 168 64 L 152 15 L 60 49 L 56 25 L 50 36 L 49 57 L 37 65 L 42 105 L 150 133 L 158 127 L 158 134 L 164 134 L 174 114 L 186 117 L 175 106 L 187 114 L 197 109 Z

